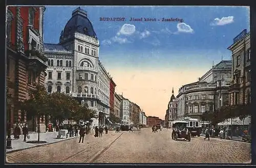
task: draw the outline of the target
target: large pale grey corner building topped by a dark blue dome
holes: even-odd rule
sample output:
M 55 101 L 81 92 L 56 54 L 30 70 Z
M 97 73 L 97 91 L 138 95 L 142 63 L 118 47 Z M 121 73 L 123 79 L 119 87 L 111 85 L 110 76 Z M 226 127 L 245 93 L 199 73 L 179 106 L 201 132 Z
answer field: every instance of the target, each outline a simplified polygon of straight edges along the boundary
M 45 43 L 46 88 L 76 98 L 96 111 L 99 125 L 110 113 L 111 77 L 99 61 L 99 41 L 86 11 L 80 7 L 60 33 L 58 44 Z M 97 121 L 94 121 L 94 123 Z

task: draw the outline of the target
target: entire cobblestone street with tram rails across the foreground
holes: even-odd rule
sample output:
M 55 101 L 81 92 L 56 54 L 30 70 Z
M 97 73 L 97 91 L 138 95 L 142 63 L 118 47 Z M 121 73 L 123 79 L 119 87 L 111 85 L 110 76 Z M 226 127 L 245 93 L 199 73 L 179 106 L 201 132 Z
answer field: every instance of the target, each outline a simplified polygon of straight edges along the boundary
M 174 141 L 170 130 L 153 133 L 141 131 L 110 131 L 103 138 L 87 135 L 84 143 L 79 138 L 7 154 L 15 163 L 248 163 L 250 144 L 204 137 L 193 137 L 190 142 Z

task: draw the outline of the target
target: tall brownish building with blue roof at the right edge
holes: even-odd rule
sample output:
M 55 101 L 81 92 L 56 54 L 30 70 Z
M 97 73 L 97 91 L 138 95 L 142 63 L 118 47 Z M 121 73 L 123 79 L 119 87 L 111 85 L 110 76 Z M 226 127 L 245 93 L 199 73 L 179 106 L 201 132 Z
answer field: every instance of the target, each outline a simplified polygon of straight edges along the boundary
M 228 47 L 232 51 L 232 81 L 229 89 L 229 104 L 251 102 L 251 47 L 250 33 L 244 30 Z

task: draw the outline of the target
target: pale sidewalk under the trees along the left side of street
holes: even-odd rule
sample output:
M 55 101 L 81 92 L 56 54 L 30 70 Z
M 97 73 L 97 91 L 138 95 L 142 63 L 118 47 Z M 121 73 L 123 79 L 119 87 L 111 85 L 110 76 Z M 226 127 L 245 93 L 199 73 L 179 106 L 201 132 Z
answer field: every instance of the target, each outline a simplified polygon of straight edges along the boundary
M 65 141 L 67 139 L 74 138 L 74 137 L 68 137 L 68 138 L 57 139 L 57 135 L 58 135 L 58 132 L 56 132 L 56 131 L 40 133 L 40 137 L 39 137 L 40 141 L 46 141 L 47 143 L 45 143 L 45 144 L 30 144 L 30 143 L 26 143 L 26 142 L 23 142 L 24 135 L 20 135 L 19 139 L 14 139 L 14 136 L 11 135 L 11 138 L 12 138 L 12 149 L 6 149 L 6 152 L 8 153 L 10 151 L 18 151 L 18 150 L 21 150 L 21 149 L 37 147 L 37 146 L 46 145 L 46 144 L 52 144 L 52 143 L 56 143 L 56 142 L 60 142 L 60 141 Z M 31 132 L 31 133 L 29 133 L 29 136 L 30 136 L 30 138 L 29 139 L 27 138 L 26 139 L 27 141 L 37 141 L 38 133 L 37 132 Z

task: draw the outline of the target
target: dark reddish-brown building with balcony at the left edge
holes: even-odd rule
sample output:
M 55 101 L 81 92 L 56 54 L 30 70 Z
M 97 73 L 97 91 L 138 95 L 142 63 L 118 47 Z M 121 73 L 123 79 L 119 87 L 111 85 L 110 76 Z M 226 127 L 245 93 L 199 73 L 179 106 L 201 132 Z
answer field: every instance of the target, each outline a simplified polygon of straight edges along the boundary
M 30 131 L 37 131 L 36 118 L 20 110 L 17 102 L 28 99 L 29 90 L 45 81 L 44 11 L 45 7 L 7 8 L 7 122 L 27 123 Z M 39 122 L 40 131 L 45 131 L 44 117 Z

